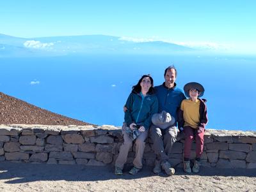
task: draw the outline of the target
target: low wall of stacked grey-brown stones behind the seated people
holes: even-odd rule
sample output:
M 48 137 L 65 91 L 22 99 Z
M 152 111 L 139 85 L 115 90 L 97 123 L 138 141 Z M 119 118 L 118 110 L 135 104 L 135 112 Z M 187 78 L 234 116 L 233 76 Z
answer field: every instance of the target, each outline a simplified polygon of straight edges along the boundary
M 0 125 L 0 161 L 114 165 L 123 142 L 122 131 L 114 126 Z M 154 165 L 156 155 L 150 138 L 143 156 L 145 165 Z M 184 140 L 175 143 L 170 154 L 172 166 L 182 166 Z M 127 163 L 132 163 L 133 146 Z M 195 144 L 191 158 L 195 158 Z M 205 132 L 202 165 L 216 168 L 256 168 L 255 131 Z

